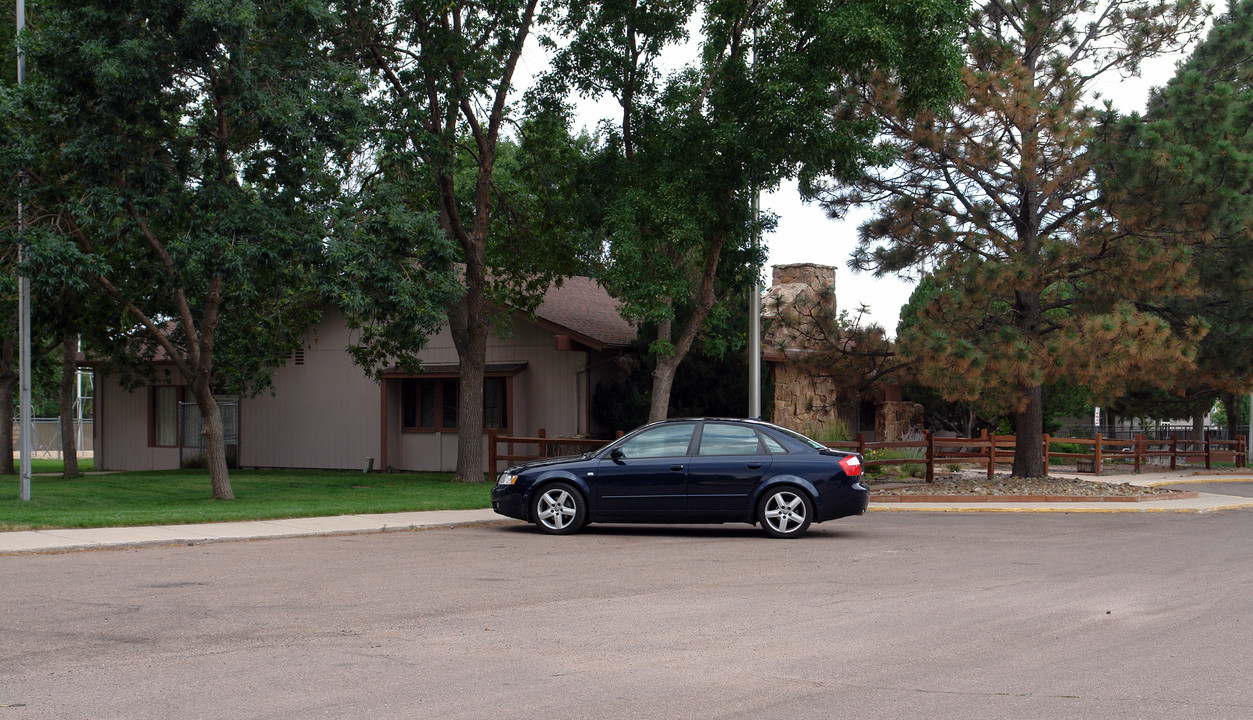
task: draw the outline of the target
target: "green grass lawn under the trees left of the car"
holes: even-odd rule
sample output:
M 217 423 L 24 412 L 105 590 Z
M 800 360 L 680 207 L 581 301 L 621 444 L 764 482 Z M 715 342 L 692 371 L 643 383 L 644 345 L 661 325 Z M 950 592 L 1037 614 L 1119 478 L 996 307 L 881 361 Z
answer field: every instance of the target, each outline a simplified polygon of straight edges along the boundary
M 35 476 L 30 501 L 21 502 L 19 480 L 11 476 L 0 481 L 0 531 L 491 507 L 490 483 L 451 478 L 451 473 L 434 472 L 234 470 L 236 500 L 218 501 L 212 497 L 207 470 L 118 472 L 71 481 Z

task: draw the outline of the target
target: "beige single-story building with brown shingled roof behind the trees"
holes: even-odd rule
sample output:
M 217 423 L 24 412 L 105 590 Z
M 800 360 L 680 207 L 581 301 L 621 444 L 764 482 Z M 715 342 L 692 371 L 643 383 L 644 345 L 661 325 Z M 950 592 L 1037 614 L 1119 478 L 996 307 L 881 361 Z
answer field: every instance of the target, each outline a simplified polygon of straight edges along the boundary
M 618 302 L 595 280 L 568 278 L 534 317 L 515 313 L 509 322 L 505 339 L 487 339 L 484 457 L 489 428 L 510 436 L 544 428 L 549 437 L 616 429 L 594 427 L 590 408 L 595 383 L 635 338 Z M 361 470 L 372 458 L 382 470 L 455 470 L 460 373 L 447 328 L 421 353 L 421 372 L 391 369 L 381 382 L 352 362 L 352 336 L 343 316 L 328 309 L 274 372 L 272 392 L 221 398 L 241 467 Z M 108 368 L 96 372 L 98 470 L 168 470 L 198 452 L 188 423 L 199 416 L 180 412 L 194 403 L 174 372 L 134 391 Z

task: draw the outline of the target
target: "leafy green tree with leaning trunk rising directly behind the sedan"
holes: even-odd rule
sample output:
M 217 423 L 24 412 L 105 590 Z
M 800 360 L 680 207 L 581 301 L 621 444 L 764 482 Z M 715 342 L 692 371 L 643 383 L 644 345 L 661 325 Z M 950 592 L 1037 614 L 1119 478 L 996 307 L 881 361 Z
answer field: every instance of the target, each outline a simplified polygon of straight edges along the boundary
M 663 76 L 660 56 L 702 16 L 699 61 Z M 955 90 L 962 4 L 570 0 L 555 13 L 554 71 L 543 93 L 616 101 L 588 158 L 604 238 L 601 277 L 623 314 L 653 323 L 653 416 L 695 337 L 717 334 L 719 306 L 759 274 L 752 197 L 784 178 L 809 184 L 882 160 L 877 123 L 852 120 L 853 80 L 901 79 L 911 106 Z M 834 113 L 833 113 L 833 109 Z

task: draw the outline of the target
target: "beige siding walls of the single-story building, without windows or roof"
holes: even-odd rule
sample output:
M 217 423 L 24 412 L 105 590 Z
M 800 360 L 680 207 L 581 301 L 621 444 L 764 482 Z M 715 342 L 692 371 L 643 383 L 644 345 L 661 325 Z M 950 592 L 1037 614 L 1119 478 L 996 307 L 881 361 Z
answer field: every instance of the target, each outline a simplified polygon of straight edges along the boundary
M 352 363 L 343 318 L 327 312 L 304 342 L 304 362 L 274 372 L 273 392 L 239 401 L 239 465 L 244 467 L 308 467 L 360 470 L 366 457 L 382 458 L 381 391 Z M 427 363 L 455 363 L 456 348 L 445 329 L 422 353 Z M 489 338 L 487 362 L 526 362 L 512 379 L 512 435 L 550 437 L 585 431 L 588 353 L 558 351 L 553 333 L 525 321 L 512 322 L 506 339 Z M 397 470 L 452 471 L 456 433 L 400 432 L 398 383 L 388 383 L 387 465 Z M 127 393 L 115 382 L 101 382 L 98 458 L 113 470 L 178 466 L 178 451 L 148 447 L 148 393 Z M 487 457 L 486 436 L 484 458 Z M 99 460 L 98 460 L 99 462 Z

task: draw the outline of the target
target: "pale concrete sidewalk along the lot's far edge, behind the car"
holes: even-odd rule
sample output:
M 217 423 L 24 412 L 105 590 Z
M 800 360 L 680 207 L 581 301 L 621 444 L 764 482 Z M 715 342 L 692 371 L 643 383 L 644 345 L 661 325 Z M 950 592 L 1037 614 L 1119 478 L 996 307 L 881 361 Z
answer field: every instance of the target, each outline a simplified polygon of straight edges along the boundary
M 1061 476 L 1066 477 L 1066 476 Z M 1141 475 L 1085 476 L 1080 480 L 1129 482 L 1141 486 L 1193 485 L 1214 482 L 1253 482 L 1253 473 L 1192 475 L 1183 472 L 1146 472 Z M 1148 500 L 1139 502 L 917 502 L 871 503 L 871 512 L 1217 512 L 1253 508 L 1253 498 L 1202 492 L 1188 500 Z M 273 537 L 309 537 L 317 535 L 351 535 L 519 522 L 501 517 L 491 510 L 441 510 L 429 512 L 392 512 L 381 515 L 340 515 L 335 517 L 293 517 L 249 522 L 207 522 L 199 525 L 155 525 L 143 527 L 96 527 L 64 530 L 26 530 L 0 532 L 0 555 L 28 552 L 64 552 L 144 545 L 184 545 L 259 540 Z

